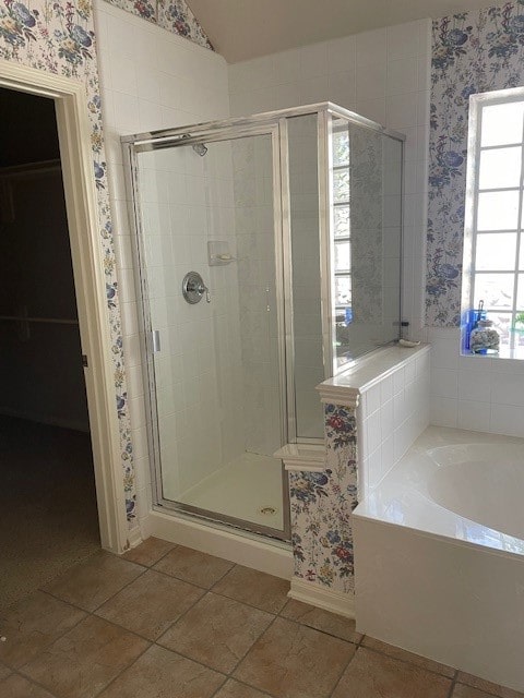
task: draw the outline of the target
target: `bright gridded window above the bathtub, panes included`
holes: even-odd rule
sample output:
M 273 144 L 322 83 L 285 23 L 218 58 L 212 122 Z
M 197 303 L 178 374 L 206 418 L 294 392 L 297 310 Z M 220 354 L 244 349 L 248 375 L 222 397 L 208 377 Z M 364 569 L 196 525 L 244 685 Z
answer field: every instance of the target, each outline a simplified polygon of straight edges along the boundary
M 475 95 L 469 128 L 464 310 L 484 305 L 499 356 L 524 359 L 524 91 Z

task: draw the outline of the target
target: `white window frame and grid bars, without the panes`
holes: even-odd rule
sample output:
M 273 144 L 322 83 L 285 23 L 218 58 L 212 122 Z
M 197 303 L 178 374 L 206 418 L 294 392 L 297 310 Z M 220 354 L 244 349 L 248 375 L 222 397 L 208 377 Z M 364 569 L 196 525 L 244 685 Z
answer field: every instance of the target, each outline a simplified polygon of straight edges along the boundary
M 487 93 L 480 93 L 472 95 L 469 97 L 469 122 L 468 122 L 468 144 L 467 144 L 467 176 L 466 176 L 466 196 L 465 196 L 465 221 L 464 221 L 464 253 L 463 253 L 463 280 L 462 280 L 462 311 L 463 316 L 466 310 L 474 309 L 475 303 L 475 281 L 480 274 L 509 274 L 511 270 L 501 269 L 481 269 L 475 268 L 476 246 L 477 239 L 480 234 L 490 232 L 503 233 L 515 232 L 516 233 L 516 250 L 515 250 L 515 264 L 512 270 L 513 273 L 513 299 L 512 308 L 509 311 L 492 310 L 492 313 L 500 315 L 508 315 L 510 320 L 510 326 L 513 326 L 516 312 L 520 309 L 516 306 L 519 274 L 524 275 L 524 269 L 519 269 L 519 258 L 521 252 L 522 242 L 522 216 L 524 207 L 524 119 L 523 119 L 523 132 L 521 141 L 517 143 L 507 143 L 496 146 L 481 146 L 481 129 L 483 129 L 483 112 L 486 107 L 495 105 L 509 104 L 512 101 L 524 101 L 524 87 L 515 87 L 511 89 L 500 89 Z M 479 173 L 480 173 L 480 154 L 484 151 L 499 149 L 502 147 L 520 146 L 522 148 L 521 159 L 521 177 L 520 185 L 511 188 L 500 189 L 480 189 L 479 188 Z M 477 230 L 477 208 L 478 208 L 478 195 L 481 192 L 499 192 L 499 191 L 519 191 L 519 212 L 517 212 L 517 225 L 515 230 Z M 488 311 L 489 318 L 489 306 Z M 524 348 L 519 351 L 520 356 L 516 356 L 515 349 L 515 334 L 511 335 L 509 352 L 503 352 L 502 358 L 509 359 L 524 359 Z M 463 337 L 464 347 L 464 337 Z M 464 353 L 469 353 L 464 349 Z

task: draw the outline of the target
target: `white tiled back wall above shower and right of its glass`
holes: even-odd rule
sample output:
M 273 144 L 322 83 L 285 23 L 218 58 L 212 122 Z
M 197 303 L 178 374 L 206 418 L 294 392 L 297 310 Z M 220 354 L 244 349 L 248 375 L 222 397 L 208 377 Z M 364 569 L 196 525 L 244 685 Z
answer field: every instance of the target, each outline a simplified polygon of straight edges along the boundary
M 431 21 L 229 65 L 233 116 L 331 100 L 406 135 L 404 317 L 424 324 Z

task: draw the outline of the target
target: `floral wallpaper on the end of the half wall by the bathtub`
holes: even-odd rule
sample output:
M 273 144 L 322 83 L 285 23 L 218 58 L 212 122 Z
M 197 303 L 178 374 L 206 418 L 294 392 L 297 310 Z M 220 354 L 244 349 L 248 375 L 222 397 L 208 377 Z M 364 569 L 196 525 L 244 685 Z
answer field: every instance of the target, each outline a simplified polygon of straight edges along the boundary
M 352 512 L 357 506 L 355 409 L 324 406 L 326 468 L 289 472 L 295 576 L 353 593 Z

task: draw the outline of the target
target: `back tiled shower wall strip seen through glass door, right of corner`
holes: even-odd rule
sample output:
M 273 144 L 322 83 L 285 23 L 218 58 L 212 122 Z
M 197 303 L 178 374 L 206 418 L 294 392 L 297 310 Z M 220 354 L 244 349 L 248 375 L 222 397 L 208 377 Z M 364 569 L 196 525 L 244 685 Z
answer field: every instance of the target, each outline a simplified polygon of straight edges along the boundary
M 272 139 L 248 136 L 227 147 L 233 153 L 237 245 L 230 268 L 238 279 L 240 311 L 238 405 L 243 423 L 238 422 L 237 433 L 245 434 L 246 450 L 272 456 L 282 446 Z

